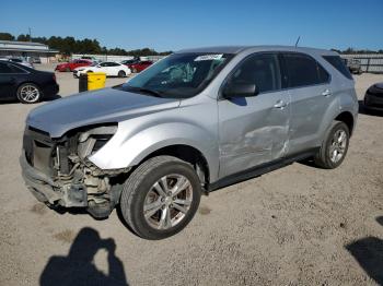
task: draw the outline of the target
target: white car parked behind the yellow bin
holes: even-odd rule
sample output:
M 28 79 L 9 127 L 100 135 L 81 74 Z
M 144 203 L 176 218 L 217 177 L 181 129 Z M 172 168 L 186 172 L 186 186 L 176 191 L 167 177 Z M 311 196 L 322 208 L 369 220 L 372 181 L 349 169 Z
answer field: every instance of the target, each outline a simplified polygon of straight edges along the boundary
M 93 63 L 89 67 L 77 68 L 73 70 L 73 76 L 79 78 L 80 74 L 89 72 L 105 72 L 106 76 L 118 78 L 125 78 L 131 73 L 130 69 L 125 64 L 114 61 L 104 61 L 101 63 Z

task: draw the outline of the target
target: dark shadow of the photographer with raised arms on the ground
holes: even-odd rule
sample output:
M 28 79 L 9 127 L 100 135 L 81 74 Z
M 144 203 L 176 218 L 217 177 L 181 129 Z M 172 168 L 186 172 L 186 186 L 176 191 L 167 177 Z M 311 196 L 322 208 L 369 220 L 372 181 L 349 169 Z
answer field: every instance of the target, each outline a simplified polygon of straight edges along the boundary
M 108 275 L 94 265 L 100 249 L 107 251 Z M 96 230 L 82 228 L 67 257 L 51 257 L 39 283 L 46 285 L 128 285 L 123 262 L 115 255 L 114 239 L 101 239 Z

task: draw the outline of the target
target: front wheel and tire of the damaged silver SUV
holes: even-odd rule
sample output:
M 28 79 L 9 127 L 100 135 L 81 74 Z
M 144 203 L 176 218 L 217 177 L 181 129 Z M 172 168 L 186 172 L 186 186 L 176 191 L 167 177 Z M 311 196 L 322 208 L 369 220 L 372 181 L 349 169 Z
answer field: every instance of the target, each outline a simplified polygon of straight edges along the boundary
M 163 239 L 181 231 L 197 212 L 199 178 L 186 162 L 158 156 L 127 179 L 120 198 L 124 219 L 140 237 Z

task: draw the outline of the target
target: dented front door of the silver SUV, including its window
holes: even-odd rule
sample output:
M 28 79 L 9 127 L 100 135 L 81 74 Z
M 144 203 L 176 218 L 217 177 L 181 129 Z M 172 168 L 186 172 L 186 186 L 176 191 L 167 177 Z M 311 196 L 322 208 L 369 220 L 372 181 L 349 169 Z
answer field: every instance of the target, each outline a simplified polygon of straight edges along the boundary
M 220 99 L 220 178 L 283 156 L 288 148 L 290 98 L 281 90 L 277 53 L 254 53 L 225 84 L 255 83 L 254 97 Z

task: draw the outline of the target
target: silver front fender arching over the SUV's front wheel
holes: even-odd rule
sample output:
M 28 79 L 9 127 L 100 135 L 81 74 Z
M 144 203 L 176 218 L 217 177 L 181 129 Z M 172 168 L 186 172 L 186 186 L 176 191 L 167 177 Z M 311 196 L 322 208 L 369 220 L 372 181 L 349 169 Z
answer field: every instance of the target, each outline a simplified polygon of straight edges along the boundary
M 217 134 L 193 122 L 135 124 L 132 121 L 120 122 L 116 134 L 89 159 L 101 169 L 119 169 L 138 165 L 160 148 L 182 144 L 198 150 L 205 156 L 211 179 L 216 179 L 219 168 Z M 135 126 L 140 130 L 135 130 Z

